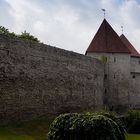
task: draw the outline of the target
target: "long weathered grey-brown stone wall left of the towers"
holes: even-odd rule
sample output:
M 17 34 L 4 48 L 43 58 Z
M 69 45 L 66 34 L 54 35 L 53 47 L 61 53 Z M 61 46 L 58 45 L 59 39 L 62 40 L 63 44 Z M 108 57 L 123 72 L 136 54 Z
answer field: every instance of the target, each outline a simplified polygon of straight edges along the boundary
M 103 105 L 97 59 L 0 35 L 0 120 L 25 120 Z

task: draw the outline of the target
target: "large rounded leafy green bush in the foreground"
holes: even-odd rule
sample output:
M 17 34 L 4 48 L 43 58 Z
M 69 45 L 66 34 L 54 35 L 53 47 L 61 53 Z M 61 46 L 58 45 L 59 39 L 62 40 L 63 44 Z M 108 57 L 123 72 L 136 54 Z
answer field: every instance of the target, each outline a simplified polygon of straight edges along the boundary
M 125 135 L 108 117 L 73 113 L 60 115 L 54 120 L 48 140 L 125 140 Z

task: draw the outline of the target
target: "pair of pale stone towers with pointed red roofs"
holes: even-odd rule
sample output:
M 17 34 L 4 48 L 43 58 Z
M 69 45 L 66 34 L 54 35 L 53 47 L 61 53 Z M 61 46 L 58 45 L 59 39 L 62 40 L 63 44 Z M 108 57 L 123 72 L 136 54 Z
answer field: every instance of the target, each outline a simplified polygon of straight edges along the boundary
M 140 54 L 124 35 L 104 19 L 85 54 L 104 63 L 104 106 L 140 108 Z

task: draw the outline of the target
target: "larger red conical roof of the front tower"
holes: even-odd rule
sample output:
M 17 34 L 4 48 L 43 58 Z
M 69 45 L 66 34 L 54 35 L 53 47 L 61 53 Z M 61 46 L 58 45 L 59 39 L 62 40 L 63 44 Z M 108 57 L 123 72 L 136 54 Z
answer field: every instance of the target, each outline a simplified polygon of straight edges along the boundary
M 110 24 L 103 20 L 86 53 L 130 53 Z

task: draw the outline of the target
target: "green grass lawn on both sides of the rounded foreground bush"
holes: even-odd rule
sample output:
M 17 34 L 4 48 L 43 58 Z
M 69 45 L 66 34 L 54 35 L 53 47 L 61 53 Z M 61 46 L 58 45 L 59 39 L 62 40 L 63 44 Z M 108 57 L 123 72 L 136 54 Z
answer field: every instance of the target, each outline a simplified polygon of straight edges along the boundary
M 45 140 L 53 119 L 13 122 L 0 126 L 0 140 Z M 127 140 L 140 140 L 140 135 L 127 134 Z

